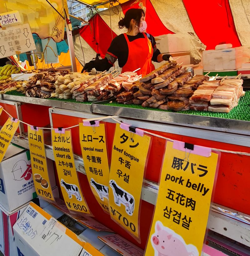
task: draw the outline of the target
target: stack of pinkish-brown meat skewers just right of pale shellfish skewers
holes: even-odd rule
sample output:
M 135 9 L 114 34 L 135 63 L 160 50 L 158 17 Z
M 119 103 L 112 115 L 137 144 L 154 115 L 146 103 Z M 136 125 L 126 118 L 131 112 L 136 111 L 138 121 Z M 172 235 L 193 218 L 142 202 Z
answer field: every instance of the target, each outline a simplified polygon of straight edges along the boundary
M 101 100 L 103 96 L 107 94 L 105 88 L 108 86 L 108 82 L 111 79 L 113 79 L 112 74 L 97 74 L 74 87 L 71 90 L 73 98 L 77 101 Z

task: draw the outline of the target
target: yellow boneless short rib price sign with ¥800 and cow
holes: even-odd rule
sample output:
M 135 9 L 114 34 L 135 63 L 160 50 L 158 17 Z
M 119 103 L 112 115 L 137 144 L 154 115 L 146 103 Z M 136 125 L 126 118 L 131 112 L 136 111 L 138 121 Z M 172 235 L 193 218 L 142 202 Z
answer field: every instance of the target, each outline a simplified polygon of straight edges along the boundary
M 64 201 L 70 211 L 90 214 L 83 197 L 75 167 L 71 131 L 53 129 L 51 132 L 53 153 Z

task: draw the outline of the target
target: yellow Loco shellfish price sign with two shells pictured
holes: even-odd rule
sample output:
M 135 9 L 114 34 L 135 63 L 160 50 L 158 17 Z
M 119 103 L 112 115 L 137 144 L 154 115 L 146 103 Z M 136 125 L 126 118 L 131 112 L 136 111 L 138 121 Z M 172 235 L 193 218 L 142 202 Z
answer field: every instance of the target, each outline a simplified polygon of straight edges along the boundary
M 53 200 L 45 155 L 43 130 L 28 125 L 28 141 L 31 156 L 32 175 L 37 195 Z

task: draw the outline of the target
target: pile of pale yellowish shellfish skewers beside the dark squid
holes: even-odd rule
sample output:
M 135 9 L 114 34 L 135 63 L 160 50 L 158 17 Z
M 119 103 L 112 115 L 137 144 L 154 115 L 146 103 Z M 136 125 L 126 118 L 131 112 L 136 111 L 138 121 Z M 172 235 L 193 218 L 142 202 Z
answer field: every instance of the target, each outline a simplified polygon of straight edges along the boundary
M 85 80 L 90 79 L 91 77 L 93 76 L 90 76 L 88 73 L 81 74 L 79 72 L 72 72 L 64 76 L 58 76 L 58 79 L 55 82 L 55 97 L 60 99 L 71 99 L 71 89 L 77 86 L 78 84 L 81 84 Z

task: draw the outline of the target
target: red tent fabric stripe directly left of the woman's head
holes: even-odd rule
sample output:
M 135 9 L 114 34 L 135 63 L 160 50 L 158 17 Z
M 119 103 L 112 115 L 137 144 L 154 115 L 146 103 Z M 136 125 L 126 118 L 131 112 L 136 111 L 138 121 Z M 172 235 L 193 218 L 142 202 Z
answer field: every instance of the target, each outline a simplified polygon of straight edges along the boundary
M 113 38 L 117 36 L 112 31 Z M 89 20 L 89 25 L 80 29 L 80 36 L 96 52 L 105 57 L 112 41 L 111 30 L 99 14 Z

